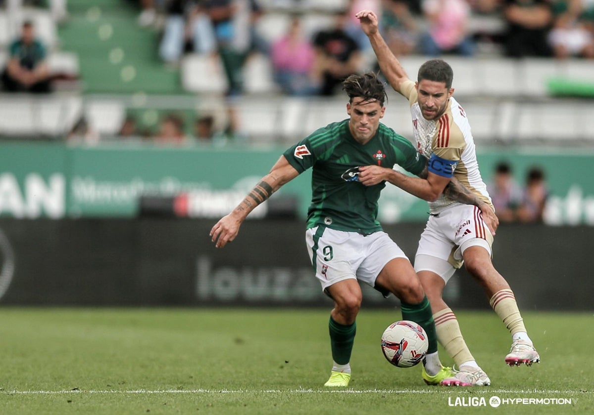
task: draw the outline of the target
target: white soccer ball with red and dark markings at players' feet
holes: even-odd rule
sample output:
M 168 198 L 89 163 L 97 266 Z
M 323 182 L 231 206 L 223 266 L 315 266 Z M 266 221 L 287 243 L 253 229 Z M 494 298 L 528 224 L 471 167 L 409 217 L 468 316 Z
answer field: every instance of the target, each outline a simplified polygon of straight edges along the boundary
M 399 368 L 417 365 L 427 354 L 427 349 L 427 334 L 414 321 L 396 321 L 388 325 L 381 336 L 381 351 L 388 362 Z

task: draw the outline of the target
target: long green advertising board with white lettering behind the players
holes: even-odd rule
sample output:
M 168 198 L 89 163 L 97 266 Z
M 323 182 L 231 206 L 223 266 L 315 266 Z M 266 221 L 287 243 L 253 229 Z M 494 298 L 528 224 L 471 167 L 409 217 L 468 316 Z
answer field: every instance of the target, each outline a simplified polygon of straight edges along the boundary
M 0 215 L 131 218 L 138 214 L 140 196 L 190 192 L 200 200 L 197 216 L 217 218 L 241 201 L 283 151 L 249 146 L 2 143 Z M 539 165 L 550 193 L 546 222 L 594 225 L 594 183 L 590 179 L 594 151 L 479 149 L 478 159 L 485 181 L 501 160 L 510 162 L 519 183 L 528 168 Z M 305 218 L 310 180 L 306 171 L 273 197 L 295 196 L 299 215 Z M 394 186 L 383 191 L 381 222 L 425 221 L 427 212 L 426 202 Z

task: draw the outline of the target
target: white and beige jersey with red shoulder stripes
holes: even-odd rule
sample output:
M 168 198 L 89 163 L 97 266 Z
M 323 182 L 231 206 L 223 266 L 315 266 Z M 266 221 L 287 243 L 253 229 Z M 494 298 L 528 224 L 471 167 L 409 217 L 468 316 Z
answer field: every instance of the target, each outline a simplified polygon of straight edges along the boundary
M 454 97 L 450 97 L 444 114 L 436 120 L 426 120 L 419 107 L 415 82 L 406 81 L 401 85 L 401 93 L 408 98 L 410 114 L 415 132 L 418 151 L 429 158 L 432 154 L 440 158 L 457 161 L 454 177 L 464 184 L 479 199 L 492 206 L 491 198 L 482 180 L 476 161 L 475 142 L 464 109 Z M 431 213 L 439 213 L 446 207 L 462 205 L 444 194 L 429 202 Z

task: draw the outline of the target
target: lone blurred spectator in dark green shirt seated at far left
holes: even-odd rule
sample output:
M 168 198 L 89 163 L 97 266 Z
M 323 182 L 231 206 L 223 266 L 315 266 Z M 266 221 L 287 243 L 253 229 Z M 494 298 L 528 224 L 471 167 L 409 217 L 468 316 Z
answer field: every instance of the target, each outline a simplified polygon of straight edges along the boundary
M 46 63 L 46 49 L 36 39 L 33 23 L 25 21 L 21 36 L 9 48 L 9 58 L 2 82 L 10 92 L 51 92 L 50 74 Z

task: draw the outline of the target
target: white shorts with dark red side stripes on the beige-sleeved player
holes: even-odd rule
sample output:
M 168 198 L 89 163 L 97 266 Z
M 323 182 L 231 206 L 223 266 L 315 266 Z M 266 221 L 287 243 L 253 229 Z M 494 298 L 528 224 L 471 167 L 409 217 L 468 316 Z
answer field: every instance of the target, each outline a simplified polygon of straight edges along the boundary
M 456 205 L 429 216 L 415 256 L 415 271 L 428 270 L 445 282 L 462 267 L 466 248 L 480 246 L 492 256 L 493 235 L 482 219 L 481 209 Z

